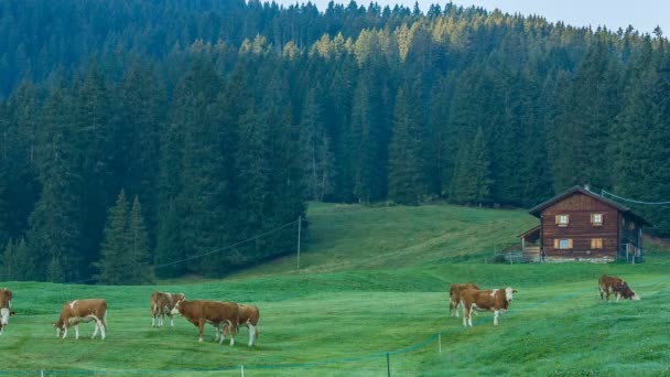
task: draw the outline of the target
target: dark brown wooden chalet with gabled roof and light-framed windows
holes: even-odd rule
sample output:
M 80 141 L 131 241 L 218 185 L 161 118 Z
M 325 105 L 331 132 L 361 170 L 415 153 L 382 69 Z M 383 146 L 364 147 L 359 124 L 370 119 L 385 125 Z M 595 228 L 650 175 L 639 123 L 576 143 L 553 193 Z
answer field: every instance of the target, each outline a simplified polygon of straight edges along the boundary
M 519 235 L 527 260 L 641 260 L 642 227 L 650 224 L 586 188 L 574 186 L 529 213 L 540 224 Z

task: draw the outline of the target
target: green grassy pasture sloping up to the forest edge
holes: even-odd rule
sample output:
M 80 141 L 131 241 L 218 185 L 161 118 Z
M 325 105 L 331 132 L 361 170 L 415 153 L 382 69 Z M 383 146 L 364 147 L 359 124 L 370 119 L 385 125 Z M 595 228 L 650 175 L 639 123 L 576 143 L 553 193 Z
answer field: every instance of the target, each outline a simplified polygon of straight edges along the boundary
M 668 375 L 670 254 L 648 245 L 647 262 L 491 265 L 494 250 L 515 241 L 534 219 L 525 212 L 446 205 L 380 207 L 314 205 L 310 248 L 295 271 L 280 258 L 220 281 L 152 287 L 2 282 L 14 292 L 0 351 L 4 375 L 138 376 L 392 376 Z M 597 278 L 624 277 L 641 301 L 602 302 Z M 493 326 L 447 316 L 452 282 L 518 290 Z M 176 319 L 152 328 L 155 289 L 191 299 L 255 303 L 260 337 L 247 347 L 197 342 L 197 328 Z M 57 340 L 51 323 L 64 301 L 105 298 L 108 337 Z M 440 352 L 441 351 L 441 352 Z M 387 356 L 388 354 L 388 356 Z M 387 359 L 388 357 L 388 359 Z M 212 370 L 219 369 L 219 370 Z

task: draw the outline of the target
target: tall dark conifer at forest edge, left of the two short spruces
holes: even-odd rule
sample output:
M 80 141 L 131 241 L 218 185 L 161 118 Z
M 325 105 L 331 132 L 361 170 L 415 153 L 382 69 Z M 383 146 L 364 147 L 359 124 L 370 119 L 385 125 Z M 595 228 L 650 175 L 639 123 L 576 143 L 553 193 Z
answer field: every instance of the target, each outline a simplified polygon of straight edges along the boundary
M 61 87 L 53 89 L 44 106 L 35 157 L 42 192 L 26 234 L 33 280 L 72 281 L 79 279 L 83 270 L 82 182 L 77 151 L 69 142 L 71 108 L 71 98 Z

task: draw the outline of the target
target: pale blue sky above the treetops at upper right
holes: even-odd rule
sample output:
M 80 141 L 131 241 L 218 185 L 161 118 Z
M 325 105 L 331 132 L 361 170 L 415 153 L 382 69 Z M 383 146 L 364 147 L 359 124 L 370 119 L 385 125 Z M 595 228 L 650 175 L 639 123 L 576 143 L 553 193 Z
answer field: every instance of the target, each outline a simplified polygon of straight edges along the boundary
M 295 4 L 307 0 L 275 0 L 283 4 Z M 413 8 L 415 0 L 376 0 L 380 6 L 396 3 Z M 312 0 L 318 10 L 327 8 L 329 0 Z M 349 3 L 349 0 L 335 0 Z M 370 3 L 370 0 L 356 0 L 359 6 Z M 444 6 L 449 0 L 419 0 L 419 8 L 426 11 L 430 4 Z M 457 6 L 477 6 L 488 10 L 496 8 L 507 13 L 523 15 L 538 14 L 550 22 L 563 21 L 573 26 L 606 25 L 616 31 L 633 25 L 641 33 L 651 33 L 657 25 L 661 26 L 663 35 L 670 35 L 670 0 L 452 0 Z

